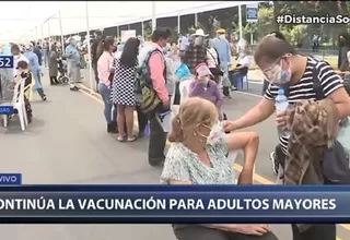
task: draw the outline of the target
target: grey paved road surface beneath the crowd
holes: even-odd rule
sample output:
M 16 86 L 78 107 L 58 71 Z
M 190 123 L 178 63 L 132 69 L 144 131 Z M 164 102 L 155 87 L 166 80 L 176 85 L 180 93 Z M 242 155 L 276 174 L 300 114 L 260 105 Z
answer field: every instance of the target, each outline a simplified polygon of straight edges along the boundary
M 48 100 L 34 100 L 34 122 L 25 132 L 12 122 L 0 128 L 3 151 L 1 172 L 22 172 L 27 184 L 127 184 L 158 183 L 161 169 L 147 163 L 147 139 L 132 144 L 121 144 L 114 135 L 105 133 L 102 105 L 98 98 L 69 92 L 67 86 L 46 86 Z M 38 97 L 36 97 L 38 99 Z M 234 93 L 224 109 L 235 119 L 252 108 L 259 98 Z M 261 135 L 256 183 L 267 184 L 275 177 L 268 154 L 277 143 L 273 120 L 252 128 Z M 235 169 L 240 169 L 237 166 Z M 291 239 L 288 225 L 272 226 L 281 240 Z M 3 237 L 15 240 L 114 240 L 174 239 L 170 226 L 162 225 L 1 225 Z M 349 233 L 339 227 L 339 237 Z

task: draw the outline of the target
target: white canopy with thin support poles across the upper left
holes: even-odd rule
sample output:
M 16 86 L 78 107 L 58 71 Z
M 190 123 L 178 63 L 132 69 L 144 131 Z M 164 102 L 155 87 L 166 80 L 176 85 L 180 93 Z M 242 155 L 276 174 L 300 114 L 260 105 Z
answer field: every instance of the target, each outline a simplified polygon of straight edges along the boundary
M 249 3 L 258 3 L 255 1 Z M 225 9 L 232 7 L 240 8 L 240 32 L 242 34 L 241 5 L 246 1 L 80 1 L 80 2 L 11 2 L 4 8 L 11 9 L 8 14 L 0 20 L 7 21 L 8 26 L 0 31 L 0 40 L 7 35 L 4 40 L 22 41 L 37 40 L 50 36 L 72 35 L 79 32 L 86 32 L 90 38 L 90 31 L 112 26 L 120 26 L 132 23 L 140 23 L 152 20 L 152 27 L 155 27 L 156 19 L 177 16 L 178 27 L 182 15 Z M 22 14 L 14 14 L 13 9 L 25 9 Z M 15 20 L 13 16 L 23 19 Z M 20 23 L 20 24 L 19 24 Z M 61 40 L 63 38 L 61 37 Z M 63 45 L 62 45 L 63 46 Z M 90 41 L 88 41 L 90 51 Z M 91 52 L 89 52 L 91 56 Z M 90 63 L 91 64 L 91 63 Z M 91 91 L 93 92 L 92 68 L 90 65 Z

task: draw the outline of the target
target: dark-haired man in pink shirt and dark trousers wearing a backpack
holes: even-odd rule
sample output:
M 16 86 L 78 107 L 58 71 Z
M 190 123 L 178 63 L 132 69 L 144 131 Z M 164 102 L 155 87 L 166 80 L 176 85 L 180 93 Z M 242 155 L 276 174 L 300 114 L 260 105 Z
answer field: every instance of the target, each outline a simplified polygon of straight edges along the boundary
M 158 113 L 170 110 L 171 98 L 166 88 L 166 65 L 164 58 L 164 48 L 171 40 L 171 29 L 156 28 L 152 34 L 152 43 L 144 46 L 139 55 L 139 65 L 149 58 L 148 67 L 152 86 L 161 99 L 160 106 L 149 116 L 150 119 L 150 143 L 149 143 L 149 163 L 151 166 L 163 166 L 164 148 L 166 144 L 166 132 L 164 132 L 158 120 Z

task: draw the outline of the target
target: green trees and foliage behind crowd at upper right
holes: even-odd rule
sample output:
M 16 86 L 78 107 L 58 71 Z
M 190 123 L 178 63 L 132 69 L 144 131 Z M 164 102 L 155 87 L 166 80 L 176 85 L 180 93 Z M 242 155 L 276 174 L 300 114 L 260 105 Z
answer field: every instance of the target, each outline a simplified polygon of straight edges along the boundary
M 304 44 L 310 46 L 314 34 L 322 36 L 322 44 L 336 45 L 337 36 L 340 32 L 349 31 L 348 25 L 331 24 L 276 24 L 276 16 L 279 14 L 295 15 L 337 15 L 350 16 L 350 1 L 272 1 L 259 3 L 258 22 L 246 23 L 246 7 L 242 7 L 243 36 L 249 43 L 250 36 L 255 40 L 271 33 L 280 31 L 295 45 Z M 197 28 L 202 28 L 211 37 L 215 36 L 218 28 L 225 28 L 229 35 L 238 35 L 238 8 L 221 9 L 203 13 L 198 13 L 198 26 L 194 26 L 194 17 L 182 17 L 182 32 L 192 34 Z M 170 25 L 177 35 L 177 26 Z M 151 36 L 151 24 L 144 23 L 145 39 Z M 349 31 L 350 32 L 350 31 Z M 306 44 L 305 44 L 306 43 Z

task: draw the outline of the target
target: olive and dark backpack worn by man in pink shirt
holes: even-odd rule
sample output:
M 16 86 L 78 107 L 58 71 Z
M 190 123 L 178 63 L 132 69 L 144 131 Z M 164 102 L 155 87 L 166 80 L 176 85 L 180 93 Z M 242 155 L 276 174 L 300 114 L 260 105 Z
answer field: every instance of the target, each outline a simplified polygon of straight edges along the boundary
M 154 52 L 160 52 L 163 58 L 164 62 L 164 79 L 166 74 L 166 63 L 163 52 L 159 49 L 151 50 L 148 56 L 145 57 L 144 61 L 142 62 L 141 67 L 137 71 L 136 82 L 135 82 L 135 94 L 136 94 L 136 101 L 140 106 L 141 111 L 144 113 L 150 113 L 155 110 L 158 106 L 162 104 L 162 100 L 158 96 L 158 93 L 152 86 L 152 80 L 150 77 L 150 57 Z

